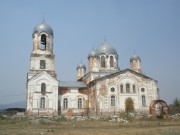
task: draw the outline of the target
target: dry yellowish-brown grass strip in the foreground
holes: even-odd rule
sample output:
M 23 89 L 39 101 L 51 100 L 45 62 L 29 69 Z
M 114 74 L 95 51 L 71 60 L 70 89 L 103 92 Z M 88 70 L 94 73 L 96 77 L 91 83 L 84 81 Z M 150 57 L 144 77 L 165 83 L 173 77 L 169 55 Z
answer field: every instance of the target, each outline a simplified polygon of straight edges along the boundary
M 180 121 L 141 120 L 117 123 L 106 120 L 59 121 L 13 118 L 0 120 L 1 135 L 179 135 Z

